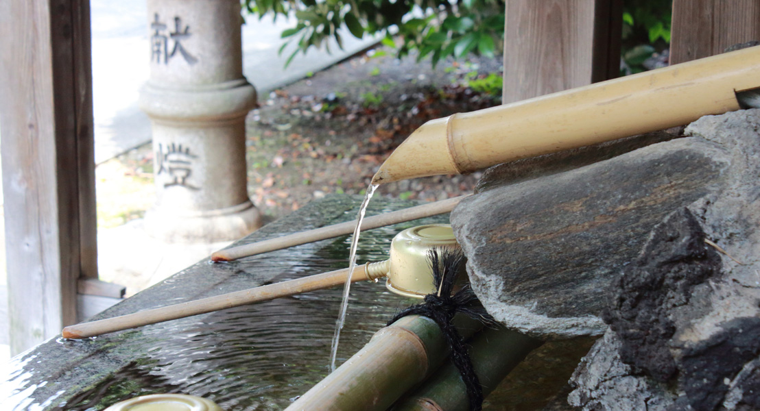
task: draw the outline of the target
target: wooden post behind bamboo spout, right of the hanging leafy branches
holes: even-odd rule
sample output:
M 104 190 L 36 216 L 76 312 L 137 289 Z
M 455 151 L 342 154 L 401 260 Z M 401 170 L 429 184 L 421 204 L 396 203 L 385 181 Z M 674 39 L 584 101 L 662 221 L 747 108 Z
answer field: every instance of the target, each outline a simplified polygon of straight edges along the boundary
M 617 77 L 620 0 L 508 0 L 506 104 Z

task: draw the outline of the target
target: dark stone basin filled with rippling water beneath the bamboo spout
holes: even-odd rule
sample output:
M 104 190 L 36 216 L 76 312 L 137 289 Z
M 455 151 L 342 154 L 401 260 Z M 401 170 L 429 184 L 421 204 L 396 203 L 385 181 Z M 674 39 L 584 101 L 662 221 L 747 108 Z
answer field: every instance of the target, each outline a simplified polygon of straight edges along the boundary
M 328 196 L 262 227 L 236 245 L 350 221 L 359 203 L 358 197 Z M 416 203 L 375 198 L 368 215 L 411 205 Z M 398 231 L 436 222 L 448 222 L 448 215 L 367 231 L 359 241 L 358 261 L 387 259 L 388 245 Z M 343 268 L 349 241 L 339 237 L 223 264 L 204 259 L 97 318 Z M 328 375 L 340 294 L 337 287 L 89 340 L 54 338 L 11 359 L 11 375 L 0 384 L 0 409 L 95 411 L 120 400 L 158 393 L 206 397 L 227 411 L 284 409 Z M 389 293 L 382 282 L 353 284 L 338 363 L 363 347 L 395 312 L 417 302 Z M 540 357 L 556 367 L 550 356 L 540 353 Z M 560 384 L 566 381 L 565 375 L 549 374 L 556 373 L 539 375 L 538 383 L 546 384 L 546 378 L 555 378 Z M 527 406 L 530 399 L 514 402 L 515 392 L 524 394 L 526 384 L 510 379 L 505 382 L 511 387 L 491 396 L 500 400 L 486 402 L 484 409 L 533 408 Z M 546 403 L 550 394 L 536 391 L 534 396 L 539 403 Z M 505 398 L 512 401 L 503 402 Z

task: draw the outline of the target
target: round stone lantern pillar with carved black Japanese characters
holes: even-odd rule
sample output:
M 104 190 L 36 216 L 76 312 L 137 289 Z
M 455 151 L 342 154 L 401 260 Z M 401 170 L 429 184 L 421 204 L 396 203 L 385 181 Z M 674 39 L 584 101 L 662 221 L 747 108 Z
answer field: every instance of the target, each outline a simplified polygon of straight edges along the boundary
M 147 231 L 170 242 L 234 240 L 260 225 L 248 197 L 239 0 L 147 0 L 157 202 Z

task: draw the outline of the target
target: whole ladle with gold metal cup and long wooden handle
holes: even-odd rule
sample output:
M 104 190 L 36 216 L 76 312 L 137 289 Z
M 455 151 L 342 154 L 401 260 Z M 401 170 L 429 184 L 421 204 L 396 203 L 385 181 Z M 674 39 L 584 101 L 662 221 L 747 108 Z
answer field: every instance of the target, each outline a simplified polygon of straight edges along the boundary
M 391 241 L 391 258 L 381 262 L 356 265 L 353 275 L 351 275 L 351 282 L 388 277 L 385 284 L 388 290 L 404 296 L 422 298 L 425 294 L 435 291 L 435 287 L 432 287 L 432 271 L 426 259 L 426 249 L 431 246 L 458 247 L 450 225 L 428 224 L 401 231 Z M 93 322 L 83 322 L 64 328 L 62 335 L 64 338 L 74 339 L 94 337 L 220 309 L 261 303 L 283 296 L 323 290 L 344 284 L 348 271 L 348 268 L 342 268 L 277 284 L 211 296 L 201 300 L 147 309 Z M 428 276 L 424 275 L 425 272 L 428 273 Z

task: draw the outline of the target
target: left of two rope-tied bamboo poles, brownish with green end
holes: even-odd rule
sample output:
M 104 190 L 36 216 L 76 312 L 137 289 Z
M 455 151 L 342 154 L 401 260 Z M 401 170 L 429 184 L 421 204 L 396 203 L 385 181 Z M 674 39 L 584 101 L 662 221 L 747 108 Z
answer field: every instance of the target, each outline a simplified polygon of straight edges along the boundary
M 458 315 L 454 326 L 467 338 L 482 325 Z M 430 318 L 408 315 L 376 332 L 358 353 L 285 411 L 385 411 L 446 356 L 448 344 L 438 325 Z

